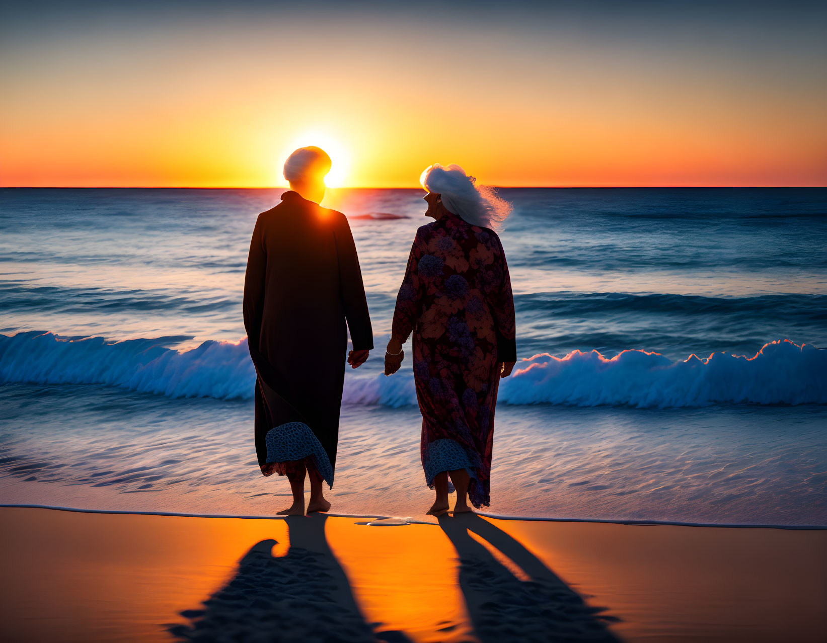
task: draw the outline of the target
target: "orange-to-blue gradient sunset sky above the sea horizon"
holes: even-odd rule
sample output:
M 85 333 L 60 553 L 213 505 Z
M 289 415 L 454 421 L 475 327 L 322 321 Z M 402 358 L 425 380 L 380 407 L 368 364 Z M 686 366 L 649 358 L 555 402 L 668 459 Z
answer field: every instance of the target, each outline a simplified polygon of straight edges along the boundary
M 0 184 L 827 185 L 825 69 L 823 2 L 2 2 Z

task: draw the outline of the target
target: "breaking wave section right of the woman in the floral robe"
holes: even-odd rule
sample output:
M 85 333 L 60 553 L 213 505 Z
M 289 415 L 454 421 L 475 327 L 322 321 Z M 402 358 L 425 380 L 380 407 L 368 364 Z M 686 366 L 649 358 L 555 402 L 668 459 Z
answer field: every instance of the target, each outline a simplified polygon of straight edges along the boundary
M 827 350 L 772 341 L 753 357 L 714 353 L 672 361 L 624 350 L 607 360 L 596 350 L 564 358 L 535 355 L 503 382 L 500 401 L 571 406 L 700 407 L 713 403 L 827 402 Z

